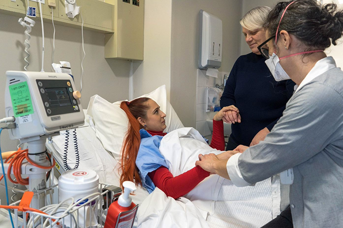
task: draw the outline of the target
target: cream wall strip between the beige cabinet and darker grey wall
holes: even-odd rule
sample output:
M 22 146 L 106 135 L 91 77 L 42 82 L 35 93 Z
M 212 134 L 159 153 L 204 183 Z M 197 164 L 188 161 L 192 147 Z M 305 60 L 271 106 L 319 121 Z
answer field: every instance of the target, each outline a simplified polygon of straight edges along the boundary
M 147 0 L 144 10 L 144 61 L 133 63 L 133 98 L 165 84 L 170 99 L 172 0 Z

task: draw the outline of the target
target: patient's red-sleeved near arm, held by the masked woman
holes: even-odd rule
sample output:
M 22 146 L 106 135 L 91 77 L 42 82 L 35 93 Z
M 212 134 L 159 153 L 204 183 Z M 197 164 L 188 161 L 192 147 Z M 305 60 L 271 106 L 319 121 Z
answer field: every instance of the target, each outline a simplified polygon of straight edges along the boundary
M 209 175 L 209 172 L 199 166 L 176 177 L 164 166 L 148 174 L 156 187 L 174 199 L 190 192 L 199 182 Z

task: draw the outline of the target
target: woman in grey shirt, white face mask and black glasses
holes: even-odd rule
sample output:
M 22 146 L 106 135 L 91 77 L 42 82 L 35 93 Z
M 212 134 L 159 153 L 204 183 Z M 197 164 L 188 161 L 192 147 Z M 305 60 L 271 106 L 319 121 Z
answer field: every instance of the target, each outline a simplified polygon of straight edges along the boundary
M 266 63 L 276 80 L 291 78 L 298 87 L 264 141 L 239 146 L 244 153 L 228 160 L 211 154 L 196 164 L 237 186 L 293 168 L 294 227 L 342 228 L 343 71 L 324 50 L 343 35 L 343 10 L 313 0 L 279 2 L 267 22 L 269 52 L 260 47 Z

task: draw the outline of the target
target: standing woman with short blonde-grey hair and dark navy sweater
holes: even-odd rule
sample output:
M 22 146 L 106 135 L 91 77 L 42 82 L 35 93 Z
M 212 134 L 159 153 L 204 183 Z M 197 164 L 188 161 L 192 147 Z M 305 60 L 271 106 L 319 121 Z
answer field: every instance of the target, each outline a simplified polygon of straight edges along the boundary
M 240 111 L 225 116 L 224 120 L 232 123 L 226 150 L 263 140 L 281 117 L 294 91 L 292 80 L 274 80 L 257 48 L 266 39 L 263 24 L 269 12 L 267 6 L 256 7 L 240 21 L 245 42 L 252 52 L 237 59 L 221 96 L 221 108 L 234 105 Z

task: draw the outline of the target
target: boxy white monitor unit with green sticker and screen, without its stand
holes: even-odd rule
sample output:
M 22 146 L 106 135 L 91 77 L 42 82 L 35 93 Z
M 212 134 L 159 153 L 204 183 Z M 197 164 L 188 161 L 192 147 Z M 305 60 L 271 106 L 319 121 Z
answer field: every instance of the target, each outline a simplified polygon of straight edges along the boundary
M 49 135 L 84 123 L 80 93 L 64 73 L 7 71 L 6 116 L 16 118 L 11 139 Z

